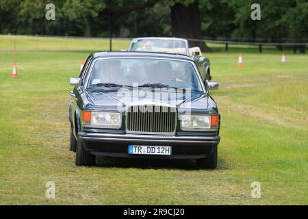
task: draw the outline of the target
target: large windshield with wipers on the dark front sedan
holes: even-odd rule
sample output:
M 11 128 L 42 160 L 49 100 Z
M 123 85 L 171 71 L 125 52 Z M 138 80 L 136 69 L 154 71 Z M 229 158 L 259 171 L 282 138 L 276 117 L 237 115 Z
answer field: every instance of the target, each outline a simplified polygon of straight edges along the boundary
M 146 86 L 203 91 L 191 62 L 151 58 L 96 60 L 87 88 Z

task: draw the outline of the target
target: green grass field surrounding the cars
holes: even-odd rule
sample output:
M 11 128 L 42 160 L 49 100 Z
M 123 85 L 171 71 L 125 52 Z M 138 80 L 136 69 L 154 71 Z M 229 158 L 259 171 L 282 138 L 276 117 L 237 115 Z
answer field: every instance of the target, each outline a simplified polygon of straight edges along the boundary
M 212 45 L 207 53 L 220 88 L 211 93 L 222 116 L 218 169 L 196 170 L 194 161 L 99 158 L 75 166 L 68 151 L 71 76 L 90 51 L 107 40 L 0 36 L 0 49 L 16 40 L 13 55 L 0 51 L 0 204 L 33 205 L 307 205 L 308 55 L 265 48 Z M 127 49 L 128 40 L 114 41 Z M 78 51 L 80 50 L 80 51 Z M 84 50 L 84 51 L 81 51 Z M 237 66 L 238 52 L 244 66 Z M 55 199 L 45 184 L 55 182 Z M 261 198 L 251 198 L 251 183 Z

